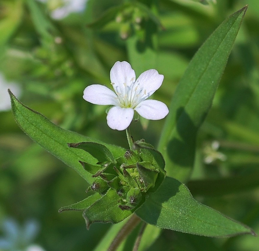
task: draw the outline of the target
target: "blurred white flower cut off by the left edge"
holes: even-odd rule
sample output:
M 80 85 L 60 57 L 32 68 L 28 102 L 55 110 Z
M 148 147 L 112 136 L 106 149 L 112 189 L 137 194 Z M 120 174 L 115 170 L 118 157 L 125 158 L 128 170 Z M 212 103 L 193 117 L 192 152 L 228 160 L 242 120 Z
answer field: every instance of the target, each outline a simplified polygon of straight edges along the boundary
M 19 98 L 21 94 L 21 88 L 16 83 L 8 83 L 0 72 L 0 111 L 7 111 L 11 109 L 10 97 L 8 94 L 8 89 Z

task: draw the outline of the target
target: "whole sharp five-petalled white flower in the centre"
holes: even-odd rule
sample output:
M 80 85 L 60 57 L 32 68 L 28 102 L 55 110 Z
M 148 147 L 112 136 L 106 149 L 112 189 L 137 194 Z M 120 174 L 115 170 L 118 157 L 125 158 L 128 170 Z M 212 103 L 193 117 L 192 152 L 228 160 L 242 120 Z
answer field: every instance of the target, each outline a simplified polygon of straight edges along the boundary
M 92 104 L 114 105 L 107 114 L 111 129 L 125 130 L 131 123 L 134 110 L 145 119 L 160 120 L 169 112 L 167 106 L 148 99 L 162 84 L 164 76 L 151 69 L 140 74 L 126 62 L 117 61 L 111 68 L 111 84 L 115 93 L 106 86 L 93 84 L 84 90 L 83 98 Z

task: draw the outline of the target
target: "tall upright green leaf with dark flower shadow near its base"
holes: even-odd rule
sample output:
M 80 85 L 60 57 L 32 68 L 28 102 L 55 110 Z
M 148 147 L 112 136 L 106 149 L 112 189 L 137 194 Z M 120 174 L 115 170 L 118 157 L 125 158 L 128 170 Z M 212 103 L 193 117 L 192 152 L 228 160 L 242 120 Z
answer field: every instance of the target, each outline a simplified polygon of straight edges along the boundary
M 210 109 L 246 9 L 232 14 L 205 41 L 175 90 L 158 145 L 170 177 L 183 182 L 189 178 L 197 131 Z

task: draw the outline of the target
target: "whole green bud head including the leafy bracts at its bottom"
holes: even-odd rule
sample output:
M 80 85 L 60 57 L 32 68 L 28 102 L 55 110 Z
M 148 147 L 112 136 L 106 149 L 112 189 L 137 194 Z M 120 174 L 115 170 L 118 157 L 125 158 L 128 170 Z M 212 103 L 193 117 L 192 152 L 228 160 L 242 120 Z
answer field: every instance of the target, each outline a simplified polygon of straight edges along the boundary
M 96 178 L 86 190 L 99 196 L 87 197 L 86 207 L 80 203 L 83 216 L 89 227 L 92 222 L 120 222 L 145 201 L 149 192 L 158 189 L 165 178 L 164 160 L 160 152 L 144 141 L 134 142 L 132 149 L 123 156 L 115 159 L 112 153 L 99 143 L 80 142 L 69 143 L 69 147 L 82 149 L 96 158 L 96 164 L 79 162 L 82 168 Z M 80 150 L 81 151 L 81 150 Z M 91 192 L 91 193 L 92 193 Z M 96 198 L 96 200 L 94 200 Z M 106 212 L 101 212 L 101 201 L 106 203 Z M 105 202 L 106 201 L 106 202 Z M 66 210 L 78 210 L 78 203 L 67 207 Z M 86 202 L 85 202 L 86 203 Z M 91 203 L 91 205 L 89 205 Z M 109 204 L 107 209 L 107 203 Z M 83 203 L 84 204 L 84 203 Z M 113 208 L 113 209 L 112 209 Z M 121 216 L 114 219 L 108 216 L 109 210 L 118 210 Z M 99 216 L 97 216 L 99 215 Z

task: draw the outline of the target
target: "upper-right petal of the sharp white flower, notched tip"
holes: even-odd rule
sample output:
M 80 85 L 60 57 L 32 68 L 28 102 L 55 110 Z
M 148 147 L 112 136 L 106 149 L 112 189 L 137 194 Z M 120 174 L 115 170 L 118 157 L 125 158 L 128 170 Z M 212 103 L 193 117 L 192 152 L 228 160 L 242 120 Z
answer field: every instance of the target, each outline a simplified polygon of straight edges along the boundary
M 159 74 L 155 69 L 150 69 L 139 75 L 132 89 L 142 90 L 142 97 L 147 99 L 161 86 L 163 80 L 164 75 Z

